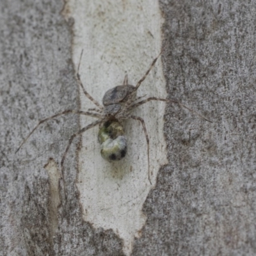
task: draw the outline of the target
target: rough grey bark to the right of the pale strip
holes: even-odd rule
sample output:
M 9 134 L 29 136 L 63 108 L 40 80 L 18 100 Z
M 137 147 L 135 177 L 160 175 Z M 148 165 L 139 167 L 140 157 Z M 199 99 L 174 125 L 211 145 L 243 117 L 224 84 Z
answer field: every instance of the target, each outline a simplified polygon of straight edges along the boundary
M 255 255 L 255 1 L 161 1 L 168 166 L 133 255 Z M 152 246 L 152 244 L 155 244 Z

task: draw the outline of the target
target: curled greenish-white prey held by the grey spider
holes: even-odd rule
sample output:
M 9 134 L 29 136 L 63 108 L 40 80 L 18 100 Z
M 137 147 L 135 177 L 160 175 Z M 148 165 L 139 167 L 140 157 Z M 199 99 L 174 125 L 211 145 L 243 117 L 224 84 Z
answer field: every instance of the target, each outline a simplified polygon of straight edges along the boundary
M 105 122 L 99 130 L 100 154 L 109 162 L 125 157 L 127 143 L 124 127 L 117 120 Z

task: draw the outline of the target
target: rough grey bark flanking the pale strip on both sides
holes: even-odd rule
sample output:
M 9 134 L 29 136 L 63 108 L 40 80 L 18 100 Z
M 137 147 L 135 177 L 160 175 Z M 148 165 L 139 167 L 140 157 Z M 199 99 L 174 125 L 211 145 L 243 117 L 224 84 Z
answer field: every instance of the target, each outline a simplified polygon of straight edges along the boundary
M 77 139 L 68 153 L 68 200 L 52 230 L 49 158 L 60 163 L 77 116 L 51 120 L 14 154 L 38 120 L 78 109 L 72 20 L 63 3 L 1 1 L 1 255 L 122 255 L 112 230 L 82 220 Z M 169 164 L 143 211 L 132 255 L 254 255 L 254 1 L 161 1 L 166 90 L 212 120 L 168 106 Z M 59 164 L 60 165 L 60 164 Z M 63 193 L 61 193 L 63 196 Z

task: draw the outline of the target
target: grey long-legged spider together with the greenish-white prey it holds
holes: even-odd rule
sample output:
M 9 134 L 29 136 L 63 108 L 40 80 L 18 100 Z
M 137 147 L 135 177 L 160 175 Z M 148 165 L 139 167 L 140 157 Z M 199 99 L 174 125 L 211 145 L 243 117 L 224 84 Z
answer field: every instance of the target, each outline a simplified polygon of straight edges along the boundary
M 47 122 L 48 120 L 51 120 L 52 118 L 56 118 L 61 115 L 66 115 L 68 113 L 92 116 L 92 117 L 97 118 L 98 119 L 97 121 L 92 122 L 92 124 L 86 125 L 82 129 L 77 131 L 75 134 L 73 134 L 68 141 L 68 145 L 67 145 L 65 152 L 63 154 L 63 157 L 61 159 L 61 175 L 62 175 L 62 179 L 63 179 L 63 188 L 64 188 L 64 192 L 65 192 L 65 180 L 64 180 L 64 175 L 63 175 L 64 161 L 65 161 L 68 150 L 69 150 L 70 145 L 71 145 L 72 141 L 74 140 L 74 138 L 76 136 L 79 136 L 83 132 L 88 131 L 88 129 L 91 129 L 92 127 L 95 127 L 96 125 L 100 125 L 98 139 L 101 144 L 101 147 L 100 147 L 101 148 L 100 149 L 101 156 L 104 159 L 108 160 L 109 162 L 118 161 L 118 160 L 122 159 L 123 157 L 125 157 L 125 154 L 127 152 L 127 141 L 126 141 L 126 137 L 125 137 L 124 127 L 122 126 L 121 122 L 122 122 L 122 120 L 126 120 L 126 119 L 137 120 L 140 122 L 140 124 L 143 127 L 143 131 L 144 131 L 145 138 L 147 141 L 148 181 L 150 182 L 150 184 L 152 184 L 152 182 L 150 180 L 149 139 L 148 139 L 146 125 L 145 125 L 143 118 L 141 118 L 140 116 L 131 115 L 130 112 L 134 108 L 137 108 L 138 106 L 141 106 L 142 104 L 145 104 L 150 100 L 159 100 L 159 101 L 164 101 L 164 102 L 176 103 L 176 104 L 179 104 L 180 107 L 184 107 L 184 108 L 189 109 L 189 111 L 195 112 L 195 111 L 193 111 L 193 109 L 190 109 L 190 108 L 184 106 L 177 100 L 167 100 L 167 99 L 161 99 L 161 98 L 157 98 L 157 97 L 148 97 L 147 99 L 140 100 L 142 97 L 136 97 L 136 92 L 137 92 L 138 88 L 140 87 L 141 83 L 146 79 L 150 70 L 152 70 L 152 68 L 156 64 L 157 59 L 159 58 L 159 56 L 161 56 L 162 52 L 163 52 L 163 49 L 158 54 L 158 56 L 152 61 L 147 72 L 140 79 L 140 81 L 138 81 L 136 86 L 129 84 L 128 76 L 125 75 L 124 83 L 122 85 L 118 85 L 118 86 L 115 86 L 114 88 L 109 89 L 104 94 L 104 97 L 102 99 L 102 104 L 103 104 L 103 106 L 102 106 L 99 104 L 99 102 L 97 102 L 97 100 L 93 99 L 93 97 L 85 90 L 83 83 L 81 82 L 80 75 L 79 75 L 79 67 L 80 67 L 80 63 L 81 63 L 81 58 L 83 56 L 83 51 L 81 51 L 81 56 L 79 59 L 79 65 L 78 65 L 77 74 L 76 74 L 77 81 L 80 84 L 84 95 L 86 95 L 86 97 L 88 99 L 90 99 L 93 102 L 93 104 L 95 104 L 95 106 L 97 108 L 88 109 L 88 111 L 67 109 L 61 113 L 57 113 L 56 115 L 49 116 L 48 118 L 45 118 L 44 120 L 40 120 L 38 122 L 38 124 L 36 125 L 36 127 L 24 139 L 24 141 L 22 141 L 22 143 L 20 144 L 19 148 L 16 150 L 15 153 L 17 153 L 19 151 L 19 149 L 22 147 L 22 145 L 24 145 L 24 143 L 26 143 L 28 138 L 31 136 L 31 134 L 33 134 L 33 132 L 38 128 L 39 125 L 43 124 L 44 122 Z M 196 113 L 196 115 L 199 115 L 199 114 Z M 199 115 L 199 116 L 204 118 L 204 116 L 201 116 L 201 115 Z M 206 118 L 204 118 L 204 119 L 207 120 Z M 207 121 L 209 121 L 209 120 L 207 120 Z M 66 197 L 66 193 L 65 193 L 65 197 Z

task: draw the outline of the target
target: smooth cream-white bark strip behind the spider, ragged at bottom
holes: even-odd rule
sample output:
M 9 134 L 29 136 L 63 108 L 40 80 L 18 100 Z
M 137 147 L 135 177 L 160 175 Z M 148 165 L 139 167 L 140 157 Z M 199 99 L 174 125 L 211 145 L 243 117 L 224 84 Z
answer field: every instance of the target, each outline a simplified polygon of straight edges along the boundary
M 74 18 L 73 60 L 77 68 L 83 49 L 80 77 L 97 102 L 109 89 L 121 85 L 125 74 L 129 84 L 138 83 L 136 89 L 140 86 L 138 97 L 165 98 L 161 60 L 154 60 L 162 45 L 162 18 L 156 1 L 68 1 L 63 13 Z M 124 123 L 127 156 L 119 163 L 100 157 L 97 129 L 83 134 L 77 180 L 83 218 L 93 227 L 113 229 L 124 241 L 126 255 L 131 254 L 134 236 L 140 236 L 146 220 L 141 209 L 152 188 L 150 182 L 155 184 L 159 168 L 167 163 L 164 106 L 164 102 L 148 102 L 131 113 L 133 120 Z M 81 109 L 90 108 L 94 108 L 92 102 L 81 92 Z M 81 118 L 81 127 L 88 124 L 88 118 Z

